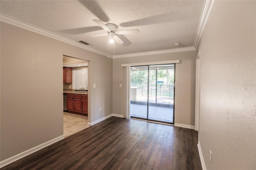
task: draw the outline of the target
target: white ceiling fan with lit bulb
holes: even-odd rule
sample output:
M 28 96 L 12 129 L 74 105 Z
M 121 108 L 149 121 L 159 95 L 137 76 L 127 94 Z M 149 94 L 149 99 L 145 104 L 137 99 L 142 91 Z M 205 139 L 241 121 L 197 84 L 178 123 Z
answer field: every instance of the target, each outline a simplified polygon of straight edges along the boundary
M 104 30 L 107 31 L 107 33 L 105 34 L 98 34 L 92 37 L 98 37 L 98 36 L 106 36 L 108 35 L 109 38 L 109 42 L 113 43 L 114 40 L 119 43 L 122 44 L 124 43 L 117 35 L 124 35 L 124 34 L 138 34 L 140 31 L 138 29 L 133 29 L 133 30 L 117 30 L 118 26 L 116 24 L 104 24 L 101 20 L 93 20 L 94 22 L 96 22 L 96 24 L 98 24 L 101 28 L 103 28 Z

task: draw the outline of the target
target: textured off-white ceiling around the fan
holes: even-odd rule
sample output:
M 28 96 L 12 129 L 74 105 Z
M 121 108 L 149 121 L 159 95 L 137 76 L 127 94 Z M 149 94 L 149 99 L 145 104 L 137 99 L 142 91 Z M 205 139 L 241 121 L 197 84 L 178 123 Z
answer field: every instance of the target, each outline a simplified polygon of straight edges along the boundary
M 204 0 L 1 0 L 0 12 L 71 40 L 84 40 L 105 53 L 108 36 L 91 37 L 106 33 L 92 19 L 114 23 L 118 30 L 140 30 L 119 35 L 123 44 L 110 44 L 109 53 L 121 55 L 193 46 L 203 4 Z

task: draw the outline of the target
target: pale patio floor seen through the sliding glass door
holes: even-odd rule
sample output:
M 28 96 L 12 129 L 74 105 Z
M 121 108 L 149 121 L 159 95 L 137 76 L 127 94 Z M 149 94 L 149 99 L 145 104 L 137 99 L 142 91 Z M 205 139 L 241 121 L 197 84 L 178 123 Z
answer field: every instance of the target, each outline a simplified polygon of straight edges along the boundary
M 148 107 L 148 119 L 173 123 L 173 107 Z M 147 105 L 130 104 L 130 114 L 132 117 L 146 118 Z

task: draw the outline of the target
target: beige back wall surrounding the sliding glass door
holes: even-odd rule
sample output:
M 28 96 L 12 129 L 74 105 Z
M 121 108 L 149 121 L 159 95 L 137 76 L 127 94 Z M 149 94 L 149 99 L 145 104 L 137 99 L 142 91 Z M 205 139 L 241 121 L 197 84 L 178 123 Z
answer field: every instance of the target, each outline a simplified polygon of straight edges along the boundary
M 176 64 L 175 117 L 174 122 L 194 126 L 196 51 L 125 57 L 113 59 L 113 113 L 123 115 L 122 64 L 180 59 Z

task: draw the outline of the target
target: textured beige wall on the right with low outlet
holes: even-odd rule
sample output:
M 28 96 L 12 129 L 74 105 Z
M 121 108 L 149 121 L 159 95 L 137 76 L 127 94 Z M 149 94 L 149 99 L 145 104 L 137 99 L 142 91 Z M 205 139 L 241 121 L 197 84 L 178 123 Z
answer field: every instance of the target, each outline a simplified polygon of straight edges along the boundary
M 198 47 L 200 146 L 207 170 L 255 170 L 256 1 L 214 3 Z

